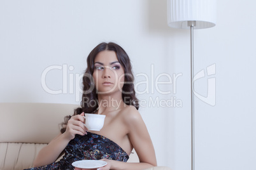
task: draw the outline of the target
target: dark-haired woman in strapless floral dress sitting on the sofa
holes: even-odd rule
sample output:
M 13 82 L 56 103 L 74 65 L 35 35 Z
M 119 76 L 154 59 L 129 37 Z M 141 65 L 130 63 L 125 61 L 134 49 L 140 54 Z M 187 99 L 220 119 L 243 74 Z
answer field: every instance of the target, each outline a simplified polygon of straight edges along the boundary
M 133 80 L 124 49 L 113 42 L 97 45 L 87 58 L 82 107 L 66 117 L 61 133 L 39 152 L 32 169 L 73 169 L 72 162 L 83 159 L 108 163 L 99 169 L 157 166 L 150 135 L 138 112 Z M 106 115 L 101 131 L 88 131 L 83 125 L 84 113 Z M 132 148 L 139 163 L 126 162 Z M 64 157 L 55 162 L 62 151 Z

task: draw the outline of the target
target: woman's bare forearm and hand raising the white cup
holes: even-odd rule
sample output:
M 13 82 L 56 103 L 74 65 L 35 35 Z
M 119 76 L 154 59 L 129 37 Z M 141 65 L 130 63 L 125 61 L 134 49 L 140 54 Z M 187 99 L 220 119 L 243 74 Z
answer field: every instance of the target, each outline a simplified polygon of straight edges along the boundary
M 66 148 L 69 141 L 75 138 L 76 134 L 87 134 L 87 128 L 85 128 L 83 122 L 85 122 L 83 113 L 71 117 L 68 121 L 66 131 L 56 136 L 48 145 L 39 151 L 38 156 L 34 160 L 34 167 L 52 164 L 57 160 L 64 148 Z

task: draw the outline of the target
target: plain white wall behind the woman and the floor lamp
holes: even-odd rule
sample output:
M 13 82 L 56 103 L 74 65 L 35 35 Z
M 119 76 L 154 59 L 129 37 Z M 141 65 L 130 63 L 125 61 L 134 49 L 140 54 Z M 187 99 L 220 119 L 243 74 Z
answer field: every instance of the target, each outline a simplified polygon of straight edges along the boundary
M 194 32 L 195 72 L 216 65 L 210 75 L 216 80 L 216 105 L 198 98 L 195 103 L 197 170 L 255 169 L 255 5 L 218 1 L 217 26 Z M 83 73 L 87 55 L 102 41 L 127 51 L 136 83 L 142 82 L 137 91 L 149 89 L 138 95 L 146 102 L 139 110 L 159 166 L 190 169 L 189 31 L 167 27 L 165 0 L 0 1 L 0 102 L 78 103 L 71 90 L 78 83 L 69 76 Z M 41 86 L 41 74 L 55 65 L 62 70 L 48 72 L 46 84 L 54 90 L 66 87 L 59 95 Z M 62 81 L 64 67 L 70 66 L 67 81 L 74 88 Z M 160 91 L 171 91 L 168 95 L 152 85 L 163 74 L 173 79 L 180 74 L 176 86 L 159 85 Z M 200 95 L 207 95 L 207 81 L 206 76 L 195 82 Z M 157 98 L 169 105 L 174 98 L 176 105 L 153 107 L 150 99 Z

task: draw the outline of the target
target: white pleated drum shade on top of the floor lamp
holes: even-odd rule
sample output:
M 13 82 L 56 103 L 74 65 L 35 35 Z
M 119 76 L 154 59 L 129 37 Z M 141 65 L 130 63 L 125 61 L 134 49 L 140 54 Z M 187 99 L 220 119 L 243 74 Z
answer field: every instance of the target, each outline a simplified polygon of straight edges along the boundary
M 196 21 L 194 29 L 214 27 L 216 10 L 216 0 L 167 0 L 168 25 L 176 29 L 190 29 L 188 21 Z

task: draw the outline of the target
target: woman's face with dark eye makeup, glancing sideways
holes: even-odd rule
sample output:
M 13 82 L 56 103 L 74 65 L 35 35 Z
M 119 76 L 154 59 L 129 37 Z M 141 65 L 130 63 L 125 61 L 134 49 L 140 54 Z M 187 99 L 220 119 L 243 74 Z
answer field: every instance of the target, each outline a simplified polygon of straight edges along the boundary
M 122 93 L 124 68 L 115 51 L 101 51 L 94 60 L 94 82 L 98 94 Z

